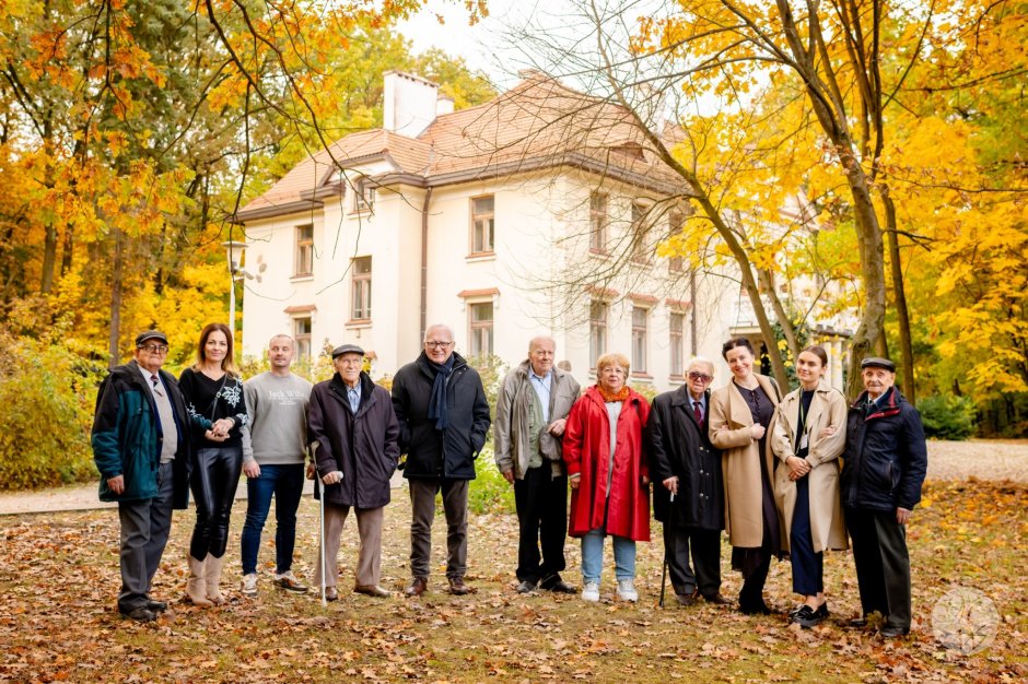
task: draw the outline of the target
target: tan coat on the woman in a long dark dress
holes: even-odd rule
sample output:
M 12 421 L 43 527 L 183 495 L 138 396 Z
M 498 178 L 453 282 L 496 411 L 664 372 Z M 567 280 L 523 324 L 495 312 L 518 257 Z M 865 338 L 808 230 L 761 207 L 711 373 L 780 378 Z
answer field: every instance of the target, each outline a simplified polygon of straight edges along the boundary
M 771 403 L 778 405 L 779 392 L 771 385 L 771 379 L 756 373 L 754 377 L 771 399 Z M 732 381 L 727 387 L 722 387 L 711 394 L 709 418 L 711 443 L 723 452 L 721 463 L 724 473 L 725 529 L 728 531 L 728 542 L 741 549 L 758 549 L 763 543 L 759 459 L 767 461 L 768 474 L 773 484 L 774 457 L 770 449 L 770 435 L 774 418 L 768 428 L 769 438 L 766 444 L 769 448 L 764 453 L 758 453 L 760 445 L 750 433 L 754 416 L 746 399 Z

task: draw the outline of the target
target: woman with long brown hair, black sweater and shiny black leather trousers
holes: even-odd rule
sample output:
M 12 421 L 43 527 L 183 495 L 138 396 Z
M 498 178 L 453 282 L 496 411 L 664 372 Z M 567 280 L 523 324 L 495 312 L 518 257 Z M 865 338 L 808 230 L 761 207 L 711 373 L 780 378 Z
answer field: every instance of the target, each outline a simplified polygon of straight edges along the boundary
M 190 488 L 197 521 L 189 542 L 186 597 L 196 605 L 224 602 L 219 589 L 229 541 L 229 516 L 243 469 L 241 429 L 248 417 L 243 380 L 235 370 L 232 335 L 224 323 L 200 332 L 197 362 L 178 379 L 192 425 Z

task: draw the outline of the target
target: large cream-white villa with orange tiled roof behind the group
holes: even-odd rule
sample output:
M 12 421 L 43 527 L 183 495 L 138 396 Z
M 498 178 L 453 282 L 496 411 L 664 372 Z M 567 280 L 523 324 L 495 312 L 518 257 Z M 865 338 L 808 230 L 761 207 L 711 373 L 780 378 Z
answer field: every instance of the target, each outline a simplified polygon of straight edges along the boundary
M 583 386 L 607 351 L 631 359 L 636 386 L 680 385 L 694 354 L 726 381 L 722 342 L 759 333 L 738 286 L 655 253 L 688 211 L 680 180 L 627 111 L 523 75 L 454 111 L 436 84 L 389 72 L 383 128 L 342 138 L 241 210 L 248 270 L 264 269 L 247 282 L 243 353 L 283 331 L 303 354 L 353 342 L 379 376 L 442 322 L 460 354 L 509 366 L 550 334 Z

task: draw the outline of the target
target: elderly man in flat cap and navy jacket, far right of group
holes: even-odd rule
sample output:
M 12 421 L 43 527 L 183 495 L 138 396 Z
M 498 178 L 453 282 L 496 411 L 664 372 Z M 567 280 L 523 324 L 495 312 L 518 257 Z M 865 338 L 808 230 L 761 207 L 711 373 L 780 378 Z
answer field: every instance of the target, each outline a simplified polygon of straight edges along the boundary
M 927 470 L 924 427 L 896 382 L 896 364 L 871 357 L 861 362 L 864 392 L 850 409 L 841 490 L 863 627 L 880 613 L 879 633 L 895 638 L 910 633 L 910 554 L 906 524 L 921 500 Z

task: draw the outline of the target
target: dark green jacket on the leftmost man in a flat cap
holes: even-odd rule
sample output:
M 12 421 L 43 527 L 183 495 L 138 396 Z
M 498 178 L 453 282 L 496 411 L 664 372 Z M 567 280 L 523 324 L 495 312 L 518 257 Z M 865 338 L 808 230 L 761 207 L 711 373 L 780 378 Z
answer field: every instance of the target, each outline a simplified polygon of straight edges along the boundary
M 168 390 L 178 433 L 178 450 L 174 462 L 175 494 L 173 506 L 185 508 L 189 500 L 191 451 L 186 406 L 178 382 L 164 370 L 161 380 Z M 93 416 L 93 460 L 100 471 L 102 502 L 135 502 L 157 495 L 157 468 L 161 464 L 161 441 L 164 434 L 157 408 L 147 380 L 135 361 L 110 372 L 100 386 Z M 125 491 L 114 494 L 107 480 L 125 476 Z

